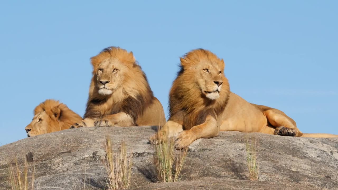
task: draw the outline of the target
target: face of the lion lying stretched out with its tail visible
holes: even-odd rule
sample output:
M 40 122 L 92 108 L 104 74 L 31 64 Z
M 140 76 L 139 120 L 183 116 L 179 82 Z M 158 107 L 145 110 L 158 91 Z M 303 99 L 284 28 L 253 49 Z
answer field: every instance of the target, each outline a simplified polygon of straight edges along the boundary
M 217 64 L 211 63 L 209 60 L 201 61 L 196 65 L 196 82 L 202 94 L 210 100 L 219 98 L 222 89 L 222 69 Z

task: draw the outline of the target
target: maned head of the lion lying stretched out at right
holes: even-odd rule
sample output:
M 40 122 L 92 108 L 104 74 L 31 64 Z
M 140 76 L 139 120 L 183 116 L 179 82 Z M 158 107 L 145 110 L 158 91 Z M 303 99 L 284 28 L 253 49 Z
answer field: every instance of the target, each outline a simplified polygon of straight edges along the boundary
M 180 58 L 180 71 L 169 94 L 169 120 L 183 121 L 185 129 L 204 122 L 206 116 L 220 115 L 230 94 L 224 75 L 224 61 L 204 49 Z

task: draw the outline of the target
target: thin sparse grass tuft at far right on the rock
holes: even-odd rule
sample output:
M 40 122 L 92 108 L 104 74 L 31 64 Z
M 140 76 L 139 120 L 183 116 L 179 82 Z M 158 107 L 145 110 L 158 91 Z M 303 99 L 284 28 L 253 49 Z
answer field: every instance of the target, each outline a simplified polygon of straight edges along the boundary
M 256 137 L 246 136 L 246 155 L 247 163 L 249 169 L 249 180 L 257 181 L 259 169 L 257 165 L 257 155 L 256 155 Z

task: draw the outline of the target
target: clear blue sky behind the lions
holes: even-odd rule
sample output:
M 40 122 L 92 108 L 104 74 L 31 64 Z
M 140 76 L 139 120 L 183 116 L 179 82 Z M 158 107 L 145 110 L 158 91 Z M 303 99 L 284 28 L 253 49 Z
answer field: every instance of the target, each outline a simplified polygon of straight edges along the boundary
M 90 57 L 133 51 L 166 115 L 179 57 L 205 48 L 233 92 L 284 111 L 305 133 L 334 133 L 337 1 L 1 1 L 0 145 L 26 137 L 40 102 L 83 116 Z

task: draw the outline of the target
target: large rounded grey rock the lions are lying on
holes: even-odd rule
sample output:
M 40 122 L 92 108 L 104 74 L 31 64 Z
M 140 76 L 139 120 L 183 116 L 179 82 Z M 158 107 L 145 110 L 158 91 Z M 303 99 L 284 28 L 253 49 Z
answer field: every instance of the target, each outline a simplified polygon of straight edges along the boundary
M 0 190 L 8 189 L 7 164 L 35 161 L 40 190 L 104 189 L 104 138 L 114 147 L 122 139 L 133 156 L 130 189 L 338 189 L 338 138 L 281 137 L 260 133 L 220 132 L 190 146 L 183 179 L 154 183 L 152 127 L 82 127 L 29 137 L 0 147 Z M 259 180 L 247 180 L 246 135 L 257 138 Z M 137 184 L 137 185 L 136 185 Z M 138 186 L 138 187 L 137 187 Z

